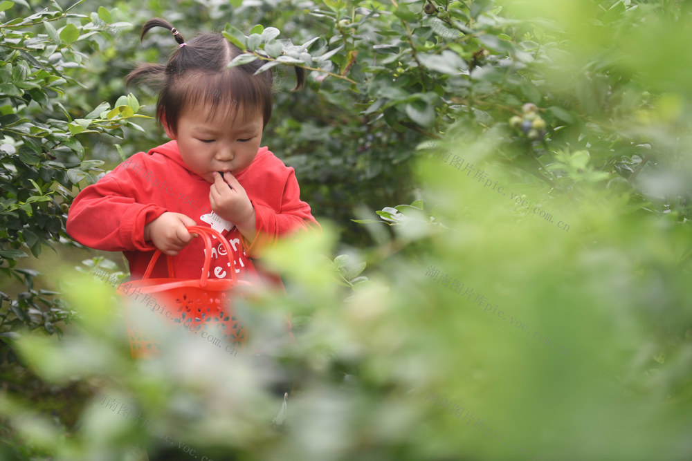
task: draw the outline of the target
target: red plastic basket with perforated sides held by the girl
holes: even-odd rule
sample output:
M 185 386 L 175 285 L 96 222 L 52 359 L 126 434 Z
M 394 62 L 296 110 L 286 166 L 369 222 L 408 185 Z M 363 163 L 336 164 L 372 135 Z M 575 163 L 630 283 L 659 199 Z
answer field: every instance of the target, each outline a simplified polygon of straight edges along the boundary
M 222 335 L 234 346 L 244 344 L 247 339 L 245 328 L 233 310 L 233 299 L 238 295 L 234 290 L 250 283 L 239 281 L 233 269 L 230 270 L 230 279 L 208 279 L 211 265 L 210 236 L 215 236 L 224 245 L 231 263 L 233 247 L 224 236 L 209 227 L 190 226 L 187 229 L 204 239 L 206 252 L 200 279 L 176 279 L 172 256 L 167 256 L 169 278 L 149 279 L 158 256 L 161 255 L 161 250 L 156 250 L 143 278 L 122 284 L 123 288 L 127 287 L 127 291 L 121 290 L 119 294 L 126 299 L 123 312 L 130 353 L 134 358 L 155 357 L 161 350 L 155 335 L 145 331 L 136 321 L 136 310 L 151 309 L 161 314 L 166 319 L 165 324 L 171 328 L 181 326 L 181 323 L 191 332 L 199 332 L 201 328 L 215 328 L 216 337 Z

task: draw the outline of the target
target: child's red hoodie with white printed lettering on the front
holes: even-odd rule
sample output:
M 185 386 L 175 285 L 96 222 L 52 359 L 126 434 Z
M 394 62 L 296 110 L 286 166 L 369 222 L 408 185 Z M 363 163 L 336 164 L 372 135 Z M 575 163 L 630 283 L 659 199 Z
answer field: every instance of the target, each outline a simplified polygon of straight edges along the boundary
M 144 227 L 165 211 L 190 216 L 197 225 L 213 227 L 233 245 L 235 258 L 228 261 L 221 243 L 212 241 L 210 278 L 230 278 L 231 264 L 242 278 L 257 273 L 250 258 L 278 238 L 300 229 L 319 228 L 310 206 L 300 200 L 293 168 L 286 167 L 266 147 L 235 178 L 245 189 L 256 215 L 256 233 L 246 241 L 233 223 L 215 214 L 209 203 L 210 183 L 192 173 L 183 162 L 178 143 L 170 141 L 149 152 L 136 153 L 75 198 L 67 217 L 67 233 L 82 245 L 122 251 L 129 262 L 131 279 L 141 279 L 156 247 L 144 241 Z M 237 250 L 237 252 L 235 252 Z M 176 278 L 197 279 L 204 261 L 202 238 L 174 256 Z M 152 278 L 167 277 L 166 258 L 158 258 Z

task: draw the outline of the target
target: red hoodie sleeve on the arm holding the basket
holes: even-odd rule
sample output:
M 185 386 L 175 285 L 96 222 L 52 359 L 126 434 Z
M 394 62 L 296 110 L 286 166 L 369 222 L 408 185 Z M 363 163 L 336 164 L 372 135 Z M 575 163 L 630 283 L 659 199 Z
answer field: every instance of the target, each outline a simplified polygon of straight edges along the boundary
M 67 234 L 82 245 L 106 250 L 156 250 L 144 241 L 144 227 L 167 209 L 138 200 L 141 179 L 127 165 L 131 159 L 85 187 L 67 216 Z

